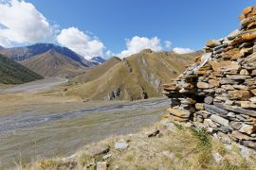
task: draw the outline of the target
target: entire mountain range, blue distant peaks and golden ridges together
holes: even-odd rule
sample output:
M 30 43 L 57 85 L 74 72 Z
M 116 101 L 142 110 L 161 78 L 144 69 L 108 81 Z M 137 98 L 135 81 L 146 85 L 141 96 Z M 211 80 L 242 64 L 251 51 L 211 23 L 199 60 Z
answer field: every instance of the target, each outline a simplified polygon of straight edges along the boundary
M 67 95 L 82 99 L 137 100 L 162 95 L 162 85 L 181 74 L 202 51 L 179 55 L 145 49 L 125 59 L 83 59 L 72 50 L 51 43 L 2 48 L 0 54 L 41 76 L 69 79 Z M 16 63 L 16 62 L 15 62 Z M 18 63 L 17 63 L 18 64 Z M 20 64 L 19 64 L 20 65 Z

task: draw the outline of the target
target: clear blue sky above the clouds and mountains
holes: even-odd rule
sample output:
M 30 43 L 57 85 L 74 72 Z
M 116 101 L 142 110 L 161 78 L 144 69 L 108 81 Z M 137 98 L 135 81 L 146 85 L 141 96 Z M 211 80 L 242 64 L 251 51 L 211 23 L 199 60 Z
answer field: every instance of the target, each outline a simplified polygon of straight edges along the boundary
M 49 25 L 58 25 L 56 32 L 75 27 L 90 36 L 92 40 L 96 36 L 95 40 L 104 46 L 102 55 L 106 56 L 107 50 L 111 51 L 111 54 L 119 54 L 128 49 L 129 44 L 126 44 L 125 40 L 128 39 L 126 40 L 128 43 L 132 42 L 135 36 L 149 40 L 156 37 L 162 47 L 157 48 L 159 50 L 175 47 L 202 49 L 209 39 L 224 37 L 238 28 L 238 15 L 243 8 L 255 5 L 256 0 L 26 0 L 25 2 L 42 13 Z M 148 40 L 140 40 L 140 42 L 145 41 Z M 165 41 L 172 42 L 172 46 L 166 48 Z

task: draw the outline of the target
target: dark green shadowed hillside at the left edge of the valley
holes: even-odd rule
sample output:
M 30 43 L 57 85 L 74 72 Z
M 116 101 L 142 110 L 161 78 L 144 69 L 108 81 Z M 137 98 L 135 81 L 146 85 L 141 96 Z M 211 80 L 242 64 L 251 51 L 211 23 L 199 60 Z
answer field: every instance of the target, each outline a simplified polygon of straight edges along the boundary
M 22 64 L 0 55 L 0 83 L 22 84 L 43 78 L 43 76 L 32 72 Z

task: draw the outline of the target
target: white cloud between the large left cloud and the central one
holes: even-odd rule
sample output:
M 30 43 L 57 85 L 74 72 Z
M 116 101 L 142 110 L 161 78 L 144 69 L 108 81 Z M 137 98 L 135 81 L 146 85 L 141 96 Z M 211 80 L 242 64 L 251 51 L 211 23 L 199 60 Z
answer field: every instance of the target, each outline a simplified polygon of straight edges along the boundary
M 96 56 L 103 56 L 104 44 L 89 35 L 83 33 L 77 27 L 63 29 L 57 36 L 57 42 L 72 49 L 85 59 Z

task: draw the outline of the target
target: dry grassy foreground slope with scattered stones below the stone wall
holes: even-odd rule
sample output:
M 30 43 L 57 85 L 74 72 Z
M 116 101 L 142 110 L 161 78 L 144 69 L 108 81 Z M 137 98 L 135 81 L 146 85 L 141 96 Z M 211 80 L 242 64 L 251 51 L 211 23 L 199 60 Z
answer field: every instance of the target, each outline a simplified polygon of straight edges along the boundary
M 155 128 L 160 129 L 162 136 L 149 138 L 149 132 L 155 131 Z M 114 144 L 119 141 L 125 141 L 129 147 L 116 150 Z M 108 145 L 109 151 L 94 156 L 93 153 L 102 145 Z M 213 153 L 221 157 L 219 162 L 214 159 Z M 103 160 L 106 154 L 110 154 L 110 157 Z M 108 169 L 253 170 L 256 167 L 253 155 L 247 159 L 243 158 L 236 144 L 226 148 L 220 141 L 211 138 L 204 129 L 195 130 L 164 120 L 155 127 L 144 129 L 137 134 L 87 144 L 69 158 L 41 160 L 22 168 L 95 169 L 99 161 L 105 161 Z

